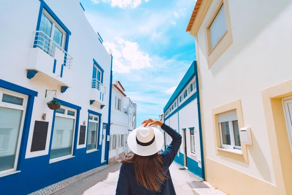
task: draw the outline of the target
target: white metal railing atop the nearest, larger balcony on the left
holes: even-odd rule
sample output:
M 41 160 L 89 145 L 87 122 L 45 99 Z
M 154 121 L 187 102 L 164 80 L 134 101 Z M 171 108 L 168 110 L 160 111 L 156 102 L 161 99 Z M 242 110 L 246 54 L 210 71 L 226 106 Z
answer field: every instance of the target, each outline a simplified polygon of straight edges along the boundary
M 58 45 L 53 39 L 51 39 L 48 35 L 46 35 L 43 31 L 35 31 L 36 37 L 34 40 L 33 47 L 39 47 L 41 50 L 52 56 L 55 57 L 55 49 L 60 50 L 64 53 L 64 65 L 71 69 L 72 60 L 73 58 L 60 46 Z

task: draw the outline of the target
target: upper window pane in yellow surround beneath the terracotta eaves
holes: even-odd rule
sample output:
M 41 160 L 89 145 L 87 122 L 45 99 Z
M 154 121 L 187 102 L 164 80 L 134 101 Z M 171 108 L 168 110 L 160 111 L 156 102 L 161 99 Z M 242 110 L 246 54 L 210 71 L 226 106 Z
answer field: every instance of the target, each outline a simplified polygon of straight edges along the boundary
M 218 43 L 218 41 L 222 38 L 226 30 L 227 28 L 224 13 L 224 4 L 222 4 L 216 17 L 214 18 L 209 27 L 211 49 L 213 49 L 214 46 Z

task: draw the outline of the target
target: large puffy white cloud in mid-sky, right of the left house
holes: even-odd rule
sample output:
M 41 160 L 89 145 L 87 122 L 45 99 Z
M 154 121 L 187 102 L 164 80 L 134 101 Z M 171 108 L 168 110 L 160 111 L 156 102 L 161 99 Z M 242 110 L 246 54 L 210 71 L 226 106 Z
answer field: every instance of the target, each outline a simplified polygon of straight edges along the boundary
M 112 71 L 129 73 L 130 70 L 151 68 L 151 58 L 147 52 L 141 51 L 137 42 L 118 38 L 116 43 L 104 42 L 105 48 L 111 49 L 113 56 Z

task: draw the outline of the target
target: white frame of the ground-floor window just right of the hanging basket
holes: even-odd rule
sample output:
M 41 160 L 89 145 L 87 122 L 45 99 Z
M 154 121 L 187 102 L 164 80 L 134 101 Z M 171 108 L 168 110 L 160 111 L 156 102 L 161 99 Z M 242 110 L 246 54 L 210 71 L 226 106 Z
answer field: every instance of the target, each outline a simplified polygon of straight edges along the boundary
M 71 155 L 61 156 L 61 157 L 57 157 L 57 158 L 50 159 L 50 162 L 49 163 L 54 163 L 54 162 L 58 162 L 58 161 L 61 161 L 61 160 L 65 160 L 65 159 L 74 157 L 73 156 L 73 150 L 74 150 L 74 140 L 75 140 L 75 129 L 76 129 L 76 115 L 77 115 L 77 110 L 76 109 L 73 109 L 73 108 L 70 108 L 70 107 L 67 107 L 67 106 L 62 106 L 62 105 L 61 105 L 60 108 L 61 109 L 65 109 L 65 114 L 55 113 L 55 117 L 63 117 L 63 118 L 74 119 L 73 137 L 72 137 L 72 150 L 71 150 Z M 67 115 L 67 111 L 68 110 L 73 111 L 75 113 L 75 115 L 74 116 Z M 53 129 L 54 129 L 54 127 L 53 127 Z M 53 132 L 53 135 L 54 135 L 54 132 Z M 51 148 L 51 150 L 52 150 L 52 148 Z M 51 151 L 49 151 L 49 153 L 51 154 Z

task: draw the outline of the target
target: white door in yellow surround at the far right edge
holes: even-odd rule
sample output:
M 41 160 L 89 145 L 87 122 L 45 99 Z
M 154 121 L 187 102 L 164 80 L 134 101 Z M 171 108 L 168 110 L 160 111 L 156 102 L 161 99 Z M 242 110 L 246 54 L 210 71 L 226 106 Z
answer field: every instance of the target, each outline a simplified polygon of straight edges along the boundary
M 290 150 L 292 154 L 292 97 L 282 99 L 284 115 L 287 126 L 287 133 L 290 142 Z

